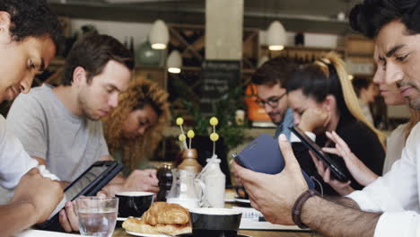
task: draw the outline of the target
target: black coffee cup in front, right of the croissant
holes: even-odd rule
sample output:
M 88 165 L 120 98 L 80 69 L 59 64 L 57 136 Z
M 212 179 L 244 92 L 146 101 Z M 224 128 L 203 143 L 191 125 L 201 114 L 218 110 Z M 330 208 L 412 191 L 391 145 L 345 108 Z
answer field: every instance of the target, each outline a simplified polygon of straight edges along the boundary
M 189 210 L 193 236 L 236 237 L 242 213 L 227 208 L 195 208 Z

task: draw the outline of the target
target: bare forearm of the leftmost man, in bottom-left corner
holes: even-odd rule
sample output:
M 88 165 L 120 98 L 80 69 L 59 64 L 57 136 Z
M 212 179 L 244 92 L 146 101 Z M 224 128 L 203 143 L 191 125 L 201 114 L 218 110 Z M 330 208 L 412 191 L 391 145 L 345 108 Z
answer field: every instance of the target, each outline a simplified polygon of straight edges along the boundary
M 38 221 L 34 215 L 35 206 L 30 203 L 16 203 L 0 206 L 0 235 L 11 236 Z

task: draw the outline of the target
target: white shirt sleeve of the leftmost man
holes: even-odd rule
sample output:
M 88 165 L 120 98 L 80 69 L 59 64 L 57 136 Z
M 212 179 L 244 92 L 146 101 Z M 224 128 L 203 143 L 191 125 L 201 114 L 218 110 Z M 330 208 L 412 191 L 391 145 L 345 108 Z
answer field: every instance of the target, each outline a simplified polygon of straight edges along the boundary
M 12 130 L 6 127 L 6 120 L 0 115 L 0 186 L 14 189 L 22 176 L 38 165 L 29 156 L 21 142 L 13 136 Z

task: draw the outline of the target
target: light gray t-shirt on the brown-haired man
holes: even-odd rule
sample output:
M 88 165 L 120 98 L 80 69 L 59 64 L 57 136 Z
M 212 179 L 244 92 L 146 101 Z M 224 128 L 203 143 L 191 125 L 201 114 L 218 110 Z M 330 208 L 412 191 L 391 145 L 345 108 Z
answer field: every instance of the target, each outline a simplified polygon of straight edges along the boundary
M 47 169 L 60 180 L 74 180 L 109 155 L 101 121 L 72 114 L 50 85 L 19 95 L 6 119 L 28 154 L 45 159 Z

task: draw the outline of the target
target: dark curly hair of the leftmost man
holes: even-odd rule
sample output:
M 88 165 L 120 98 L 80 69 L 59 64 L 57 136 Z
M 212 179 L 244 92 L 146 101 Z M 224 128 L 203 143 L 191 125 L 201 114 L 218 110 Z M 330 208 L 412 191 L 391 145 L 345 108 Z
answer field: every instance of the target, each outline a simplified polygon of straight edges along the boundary
M 11 16 L 10 32 L 14 41 L 48 36 L 54 41 L 57 52 L 62 49 L 63 30 L 57 14 L 45 0 L 1 0 L 0 11 Z

